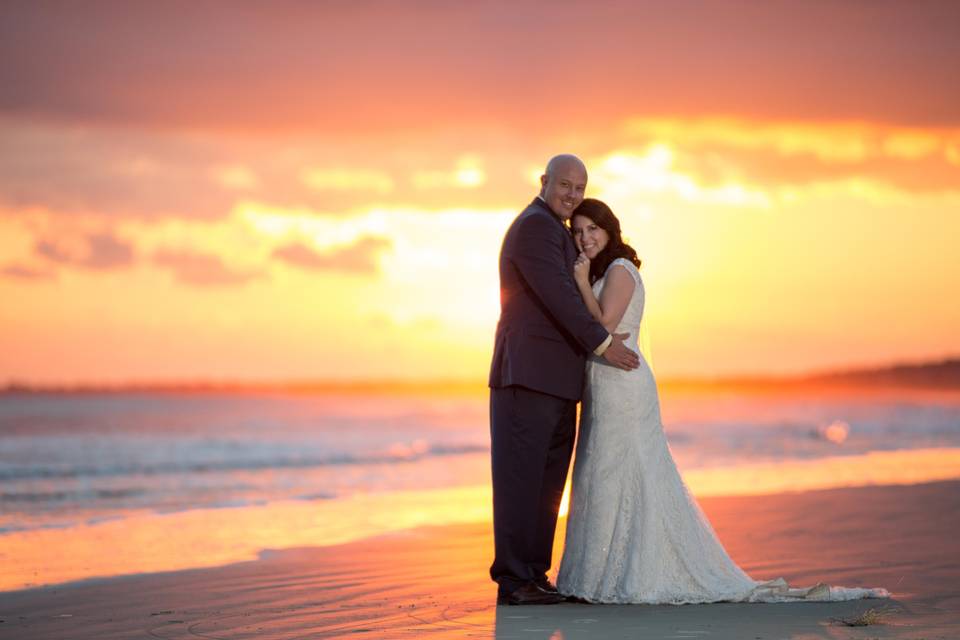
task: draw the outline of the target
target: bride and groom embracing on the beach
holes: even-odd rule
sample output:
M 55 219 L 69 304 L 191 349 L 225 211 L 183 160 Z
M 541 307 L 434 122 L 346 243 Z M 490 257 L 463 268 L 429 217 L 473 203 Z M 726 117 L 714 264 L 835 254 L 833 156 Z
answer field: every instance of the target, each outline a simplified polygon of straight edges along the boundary
M 640 260 L 587 170 L 559 155 L 500 252 L 490 371 L 498 604 L 686 604 L 886 597 L 884 589 L 790 588 L 733 562 L 667 446 L 640 356 Z M 569 225 L 569 226 L 568 226 Z M 583 400 L 579 437 L 576 406 Z M 547 578 L 577 443 L 557 584 Z

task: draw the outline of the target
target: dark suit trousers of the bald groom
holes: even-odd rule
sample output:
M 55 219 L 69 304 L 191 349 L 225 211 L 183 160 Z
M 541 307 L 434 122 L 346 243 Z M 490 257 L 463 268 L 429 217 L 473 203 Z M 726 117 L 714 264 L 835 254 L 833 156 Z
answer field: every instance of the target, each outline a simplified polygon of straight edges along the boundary
M 576 400 L 519 386 L 490 390 L 490 577 L 502 590 L 545 579 L 550 569 L 576 416 Z

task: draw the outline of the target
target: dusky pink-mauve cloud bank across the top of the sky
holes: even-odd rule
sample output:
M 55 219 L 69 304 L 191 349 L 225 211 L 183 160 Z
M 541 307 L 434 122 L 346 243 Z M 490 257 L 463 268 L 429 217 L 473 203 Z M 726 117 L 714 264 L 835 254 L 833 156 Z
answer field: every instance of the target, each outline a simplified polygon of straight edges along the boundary
M 347 135 L 638 110 L 947 124 L 958 23 L 952 0 L 4 3 L 0 111 Z

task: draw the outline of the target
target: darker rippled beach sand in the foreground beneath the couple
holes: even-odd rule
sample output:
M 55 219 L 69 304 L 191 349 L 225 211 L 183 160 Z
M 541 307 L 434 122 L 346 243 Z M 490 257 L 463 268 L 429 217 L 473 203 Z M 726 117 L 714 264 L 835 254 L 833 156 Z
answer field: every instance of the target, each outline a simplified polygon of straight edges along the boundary
M 755 578 L 882 586 L 892 600 L 497 607 L 489 523 L 264 550 L 216 568 L 0 594 L 0 637 L 960 637 L 960 482 L 702 500 Z M 562 548 L 561 536 L 555 552 Z M 238 535 L 242 533 L 238 532 Z M 109 549 L 104 549 L 109 553 Z M 870 608 L 883 624 L 848 627 Z

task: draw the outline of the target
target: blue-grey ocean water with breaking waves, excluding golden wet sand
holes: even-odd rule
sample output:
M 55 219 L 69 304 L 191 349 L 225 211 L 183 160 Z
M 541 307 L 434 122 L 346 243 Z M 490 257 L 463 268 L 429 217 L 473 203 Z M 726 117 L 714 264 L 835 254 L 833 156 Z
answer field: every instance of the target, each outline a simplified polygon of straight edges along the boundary
M 960 447 L 960 398 L 668 395 L 681 470 Z M 488 481 L 487 397 L 0 395 L 0 535 L 123 517 Z

